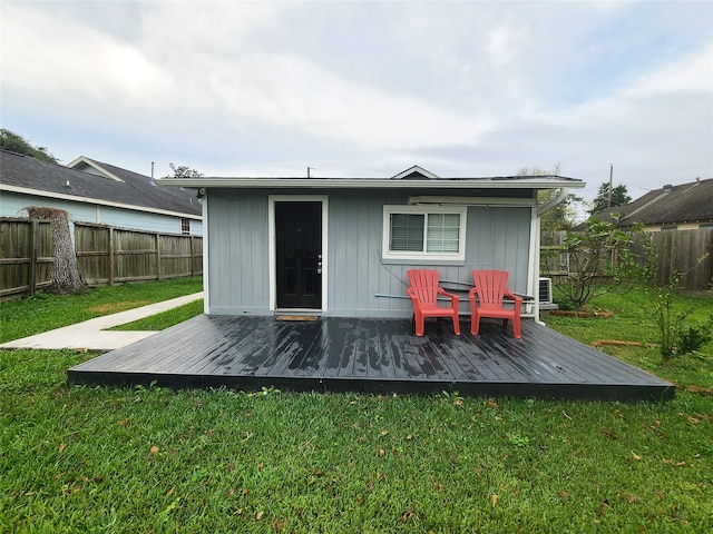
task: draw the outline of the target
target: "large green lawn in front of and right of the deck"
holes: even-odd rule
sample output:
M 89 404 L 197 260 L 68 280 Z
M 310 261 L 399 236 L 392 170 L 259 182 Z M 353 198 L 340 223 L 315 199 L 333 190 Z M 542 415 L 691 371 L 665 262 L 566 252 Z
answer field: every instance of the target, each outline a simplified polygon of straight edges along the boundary
M 614 312 L 548 322 L 585 340 L 655 342 L 643 317 Z M 710 387 L 706 354 L 652 370 Z M 713 527 L 705 390 L 622 404 L 68 387 L 89 357 L 0 352 L 0 531 Z

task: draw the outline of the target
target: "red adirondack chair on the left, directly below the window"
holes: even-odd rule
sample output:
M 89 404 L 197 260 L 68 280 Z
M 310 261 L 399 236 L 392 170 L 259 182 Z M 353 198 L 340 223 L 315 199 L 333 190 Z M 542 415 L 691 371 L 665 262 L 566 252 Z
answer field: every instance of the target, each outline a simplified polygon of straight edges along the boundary
M 423 335 L 423 319 L 426 317 L 450 317 L 453 319 L 453 330 L 460 336 L 460 324 L 458 322 L 458 295 L 446 293 L 438 285 L 438 270 L 429 269 L 411 269 L 407 271 L 411 287 L 407 289 L 407 295 L 411 297 L 413 303 L 413 320 L 416 323 L 416 335 Z M 438 296 L 442 295 L 449 298 L 450 305 L 439 306 Z

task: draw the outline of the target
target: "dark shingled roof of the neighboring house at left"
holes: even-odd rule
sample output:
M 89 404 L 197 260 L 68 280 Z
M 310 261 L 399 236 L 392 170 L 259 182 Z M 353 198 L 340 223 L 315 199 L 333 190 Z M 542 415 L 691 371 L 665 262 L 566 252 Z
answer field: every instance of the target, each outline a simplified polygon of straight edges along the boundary
M 201 217 L 202 205 L 194 191 L 156 187 L 148 176 L 88 158 L 78 158 L 74 162 L 86 164 L 91 171 L 0 150 L 0 188 L 141 211 Z

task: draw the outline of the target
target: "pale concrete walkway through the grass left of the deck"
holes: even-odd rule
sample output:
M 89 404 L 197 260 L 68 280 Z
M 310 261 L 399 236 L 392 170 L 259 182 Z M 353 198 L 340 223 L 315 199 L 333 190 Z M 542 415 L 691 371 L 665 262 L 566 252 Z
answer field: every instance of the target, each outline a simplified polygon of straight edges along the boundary
M 153 336 L 157 334 L 157 332 L 111 332 L 106 330 L 106 328 L 125 325 L 134 320 L 143 319 L 144 317 L 150 317 L 152 315 L 160 314 L 162 312 L 183 306 L 199 298 L 203 298 L 203 291 L 164 300 L 163 303 L 150 304 L 140 308 L 127 309 L 118 314 L 105 315 L 104 317 L 65 326 L 56 330 L 3 343 L 0 345 L 0 348 L 114 350 L 115 348 L 120 348 Z

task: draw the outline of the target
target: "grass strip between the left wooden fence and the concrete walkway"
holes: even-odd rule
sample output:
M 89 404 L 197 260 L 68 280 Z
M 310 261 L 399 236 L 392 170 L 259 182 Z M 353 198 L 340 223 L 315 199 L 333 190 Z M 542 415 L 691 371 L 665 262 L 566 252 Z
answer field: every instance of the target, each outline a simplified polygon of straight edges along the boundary
M 39 293 L 0 304 L 0 343 L 203 290 L 202 277 L 87 288 L 76 295 Z

